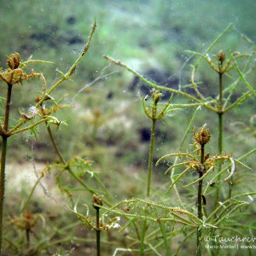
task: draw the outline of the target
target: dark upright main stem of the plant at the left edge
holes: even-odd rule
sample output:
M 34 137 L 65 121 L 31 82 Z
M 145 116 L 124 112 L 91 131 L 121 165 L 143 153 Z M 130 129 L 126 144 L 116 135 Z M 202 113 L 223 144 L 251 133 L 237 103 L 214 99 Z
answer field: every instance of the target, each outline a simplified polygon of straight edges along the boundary
M 4 179 L 5 179 L 5 165 L 6 165 L 6 153 L 7 153 L 7 139 L 6 135 L 9 127 L 9 108 L 12 95 L 13 84 L 8 84 L 7 100 L 5 105 L 5 116 L 2 136 L 2 154 L 1 154 L 1 173 L 0 173 L 0 254 L 2 252 L 2 241 L 3 241 L 3 198 L 4 198 Z

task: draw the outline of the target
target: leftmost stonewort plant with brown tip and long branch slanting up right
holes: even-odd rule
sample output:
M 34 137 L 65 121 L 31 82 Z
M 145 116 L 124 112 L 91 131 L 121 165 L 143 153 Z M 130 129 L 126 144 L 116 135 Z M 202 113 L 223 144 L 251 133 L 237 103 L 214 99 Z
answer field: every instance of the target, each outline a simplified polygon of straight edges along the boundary
M 61 74 L 61 78 L 55 84 L 51 85 L 50 88 L 48 88 L 48 84 L 46 82 L 46 79 L 44 78 L 43 73 L 36 73 L 34 71 L 32 71 L 31 73 L 28 72 L 28 67 L 30 67 L 34 63 L 52 64 L 49 61 L 32 60 L 32 59 L 29 59 L 27 61 L 22 61 L 20 54 L 15 52 L 14 54 L 11 54 L 8 56 L 8 60 L 7 60 L 8 67 L 6 69 L 1 69 L 0 79 L 2 80 L 1 87 L 3 88 L 1 89 L 1 91 L 3 92 L 5 88 L 7 89 L 6 98 L 4 98 L 3 95 L 1 96 L 2 102 L 5 102 L 5 103 L 2 105 L 2 108 L 4 108 L 4 115 L 0 119 L 1 120 L 0 135 L 2 137 L 1 176 L 0 176 L 0 250 L 1 251 L 3 251 L 3 207 L 4 207 L 3 199 L 4 199 L 4 191 L 5 191 L 5 166 L 6 166 L 7 146 L 8 146 L 9 137 L 13 137 L 25 131 L 31 131 L 32 134 L 36 136 L 38 132 L 37 126 L 41 124 L 46 124 L 47 129 L 49 131 L 49 137 L 52 139 L 53 145 L 55 147 L 57 154 L 61 159 L 61 162 L 64 163 L 64 160 L 61 157 L 61 154 L 58 151 L 58 148 L 56 147 L 55 142 L 53 140 L 53 137 L 50 131 L 50 125 L 56 125 L 59 127 L 60 125 L 65 124 L 61 120 L 57 119 L 54 114 L 56 111 L 60 110 L 61 108 L 65 108 L 66 106 L 59 105 L 58 102 L 52 96 L 52 93 L 63 83 L 63 81 L 71 79 L 71 76 L 74 70 L 76 69 L 76 67 L 78 66 L 79 61 L 81 61 L 84 55 L 86 55 L 90 47 L 90 42 L 95 30 L 96 30 L 96 20 L 91 26 L 88 42 L 87 44 L 85 44 L 84 49 L 79 55 L 78 59 L 74 61 L 73 65 L 68 69 L 67 73 L 61 73 L 59 71 L 59 73 Z M 28 109 L 26 113 L 20 113 L 20 119 L 15 120 L 15 122 L 13 121 L 11 122 L 10 108 L 11 108 L 12 92 L 13 90 L 15 90 L 16 86 L 19 86 L 19 84 L 25 83 L 32 79 L 41 80 L 42 82 L 41 95 L 35 96 L 35 103 L 31 108 Z M 48 108 L 45 108 L 44 102 L 46 101 L 50 102 L 50 104 L 48 104 L 49 106 Z M 68 164 L 71 165 L 71 163 L 68 163 Z M 68 165 L 66 166 L 66 168 L 68 168 Z M 49 168 L 46 168 L 46 169 L 49 169 Z M 72 171 L 70 171 L 70 173 L 71 175 L 76 177 Z M 44 177 L 44 172 L 41 173 L 41 176 L 38 178 L 38 182 L 42 177 Z M 35 184 L 35 186 L 38 184 L 38 182 Z M 32 189 L 32 192 L 33 192 L 33 189 Z M 31 192 L 31 195 L 32 195 L 32 192 Z M 24 213 L 26 204 L 29 201 L 31 195 L 29 196 L 28 200 L 22 207 L 21 209 L 22 213 Z M 25 214 L 24 218 L 22 219 L 23 219 L 22 221 L 26 221 L 26 219 L 32 219 L 32 218 L 28 218 L 28 215 Z M 15 223 L 18 223 L 18 221 L 15 221 Z M 26 224 L 28 224 L 28 226 L 31 226 L 34 223 L 32 223 L 31 221 L 26 221 Z M 29 247 L 29 230 L 30 228 L 26 229 L 28 247 Z

